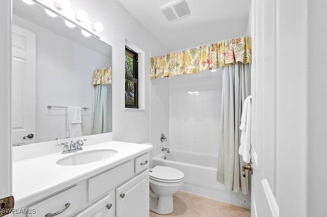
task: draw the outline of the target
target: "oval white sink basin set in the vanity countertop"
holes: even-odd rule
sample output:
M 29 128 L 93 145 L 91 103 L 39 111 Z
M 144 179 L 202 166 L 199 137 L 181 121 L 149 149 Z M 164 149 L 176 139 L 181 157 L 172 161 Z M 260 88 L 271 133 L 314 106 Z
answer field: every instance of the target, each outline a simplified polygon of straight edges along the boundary
M 112 157 L 116 153 L 118 152 L 110 149 L 84 151 L 80 153 L 74 153 L 73 155 L 61 158 L 60 160 L 57 161 L 57 164 L 63 166 L 89 164 L 90 162 L 96 162 L 99 160 Z

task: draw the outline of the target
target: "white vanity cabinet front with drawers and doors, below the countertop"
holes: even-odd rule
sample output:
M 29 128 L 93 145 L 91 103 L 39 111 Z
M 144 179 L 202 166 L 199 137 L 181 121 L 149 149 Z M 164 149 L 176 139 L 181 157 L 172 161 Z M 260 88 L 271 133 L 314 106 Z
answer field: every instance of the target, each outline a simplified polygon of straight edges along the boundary
M 149 216 L 149 154 L 129 158 L 30 204 L 25 210 L 28 208 L 31 213 L 13 216 Z

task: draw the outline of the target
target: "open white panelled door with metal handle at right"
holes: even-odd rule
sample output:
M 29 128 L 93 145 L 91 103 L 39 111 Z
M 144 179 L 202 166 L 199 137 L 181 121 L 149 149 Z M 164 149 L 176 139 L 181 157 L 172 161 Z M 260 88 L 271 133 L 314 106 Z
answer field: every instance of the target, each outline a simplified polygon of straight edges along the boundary
M 252 1 L 252 216 L 279 216 L 275 183 L 275 1 Z

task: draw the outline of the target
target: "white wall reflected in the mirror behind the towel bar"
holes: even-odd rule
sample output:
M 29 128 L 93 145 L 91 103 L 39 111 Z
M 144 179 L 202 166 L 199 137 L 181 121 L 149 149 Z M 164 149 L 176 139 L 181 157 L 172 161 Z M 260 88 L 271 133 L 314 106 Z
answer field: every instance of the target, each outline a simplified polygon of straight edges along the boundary
M 90 135 L 92 73 L 111 66 L 111 59 L 21 17 L 13 15 L 13 23 L 36 34 L 36 142 L 66 138 L 67 110 L 48 109 L 49 104 L 88 107 L 82 110 L 82 130 L 83 135 Z M 111 117 L 108 121 L 110 126 Z

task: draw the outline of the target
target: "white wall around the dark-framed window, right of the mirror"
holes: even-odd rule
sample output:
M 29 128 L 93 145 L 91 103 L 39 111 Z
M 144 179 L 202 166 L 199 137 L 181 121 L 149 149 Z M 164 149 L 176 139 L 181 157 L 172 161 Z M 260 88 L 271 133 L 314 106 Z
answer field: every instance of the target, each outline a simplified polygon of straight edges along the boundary
M 89 19 L 104 25 L 101 39 L 112 46 L 113 140 L 150 141 L 150 56 L 165 53 L 164 47 L 116 0 L 72 0 L 72 8 L 85 10 Z M 125 109 L 125 39 L 145 52 L 145 110 Z M 151 53 L 150 53 L 151 52 Z

